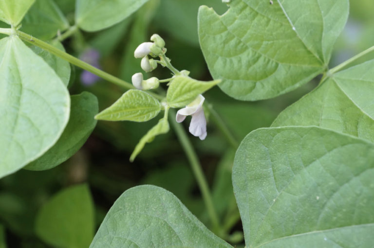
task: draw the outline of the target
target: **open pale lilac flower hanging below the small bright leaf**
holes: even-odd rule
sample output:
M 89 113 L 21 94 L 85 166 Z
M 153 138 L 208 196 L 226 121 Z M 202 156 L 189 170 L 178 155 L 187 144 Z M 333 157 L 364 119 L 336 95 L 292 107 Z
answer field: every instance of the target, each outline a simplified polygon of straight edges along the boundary
M 179 109 L 175 117 L 176 121 L 181 123 L 186 119 L 187 115 L 191 115 L 192 119 L 188 130 L 192 135 L 199 137 L 200 140 L 205 140 L 206 138 L 206 119 L 203 109 L 204 100 L 204 96 L 199 95 L 192 103 Z

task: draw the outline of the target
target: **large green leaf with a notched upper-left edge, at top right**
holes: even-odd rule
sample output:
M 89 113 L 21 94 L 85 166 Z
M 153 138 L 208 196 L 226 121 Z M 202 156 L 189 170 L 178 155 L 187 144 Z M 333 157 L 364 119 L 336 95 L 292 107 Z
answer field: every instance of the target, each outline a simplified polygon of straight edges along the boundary
M 239 100 L 275 97 L 325 71 L 348 0 L 231 0 L 199 9 L 199 39 L 220 88 Z

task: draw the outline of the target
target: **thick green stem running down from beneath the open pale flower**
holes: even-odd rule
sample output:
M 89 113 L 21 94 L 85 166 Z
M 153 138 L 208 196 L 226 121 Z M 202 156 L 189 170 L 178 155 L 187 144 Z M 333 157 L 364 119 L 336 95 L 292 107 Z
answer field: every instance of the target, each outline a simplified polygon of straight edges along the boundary
M 169 119 L 173 128 L 175 130 L 176 135 L 178 136 L 179 142 L 183 147 L 183 150 L 186 153 L 186 156 L 189 160 L 189 163 L 192 167 L 192 171 L 196 177 L 197 183 L 199 185 L 201 194 L 203 196 L 204 203 L 206 205 L 206 210 L 208 212 L 210 221 L 212 222 L 213 230 L 219 233 L 220 225 L 216 210 L 214 209 L 213 199 L 209 191 L 208 184 L 206 182 L 206 178 L 204 176 L 203 170 L 201 169 L 201 165 L 197 155 L 192 147 L 191 142 L 188 139 L 185 129 L 183 126 L 175 121 L 175 110 L 170 109 Z

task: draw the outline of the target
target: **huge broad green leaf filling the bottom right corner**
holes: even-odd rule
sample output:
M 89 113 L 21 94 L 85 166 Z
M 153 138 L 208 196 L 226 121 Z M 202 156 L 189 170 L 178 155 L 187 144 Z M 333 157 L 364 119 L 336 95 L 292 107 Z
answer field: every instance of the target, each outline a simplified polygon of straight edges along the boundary
M 263 128 L 234 160 L 248 248 L 370 248 L 374 145 L 319 127 Z

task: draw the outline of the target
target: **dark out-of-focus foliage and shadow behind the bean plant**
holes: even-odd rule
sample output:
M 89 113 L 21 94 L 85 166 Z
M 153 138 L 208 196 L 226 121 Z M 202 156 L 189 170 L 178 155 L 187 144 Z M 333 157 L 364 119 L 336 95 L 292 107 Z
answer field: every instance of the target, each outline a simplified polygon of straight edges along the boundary
M 75 0 L 55 2 L 73 24 Z M 150 35 L 157 33 L 165 39 L 168 57 L 177 69 L 190 71 L 190 75 L 196 79 L 210 80 L 197 36 L 197 11 L 202 4 L 214 7 L 219 14 L 227 10 L 221 0 L 151 0 L 130 18 L 111 28 L 96 33 L 79 31 L 66 39 L 63 45 L 68 53 L 77 57 L 82 57 L 88 50 L 98 52 L 98 64 L 104 71 L 130 82 L 131 75 L 141 70 L 140 60 L 133 57 L 134 49 L 138 44 L 148 41 Z M 350 4 L 350 17 L 344 32 L 337 40 L 331 66 L 374 45 L 374 1 L 351 0 Z M 356 63 L 370 58 L 374 58 L 373 53 Z M 71 94 L 78 94 L 83 90 L 92 92 L 99 100 L 100 110 L 110 106 L 124 92 L 123 89 L 100 79 L 82 82 L 81 73 L 79 68 L 73 68 Z M 170 73 L 166 69 L 158 68 L 147 76 L 161 79 L 170 77 Z M 317 84 L 318 78 L 293 92 L 259 102 L 233 100 L 217 87 L 205 96 L 234 136 L 241 141 L 250 131 L 269 126 L 281 110 Z M 208 113 L 207 117 L 209 118 Z M 153 184 L 171 191 L 209 227 L 196 181 L 172 131 L 156 137 L 146 145 L 133 163 L 129 162 L 136 143 L 157 119 L 147 123 L 99 121 L 82 149 L 63 164 L 48 171 L 21 170 L 0 179 L 0 248 L 6 247 L 5 240 L 7 247 L 11 248 L 65 247 L 64 244 L 51 244 L 45 240 L 43 227 L 40 227 L 43 223 L 37 222 L 37 219 L 43 215 L 44 219 L 55 221 L 57 233 L 58 228 L 68 228 L 66 223 L 60 223 L 62 220 L 53 218 L 52 213 L 58 215 L 53 209 L 47 213 L 41 209 L 48 204 L 53 208 L 50 201 L 54 199 L 54 195 L 80 183 L 89 187 L 89 191 L 84 191 L 84 194 L 91 192 L 92 195 L 78 198 L 93 201 L 94 230 L 125 190 L 141 184 Z M 187 129 L 188 122 L 184 125 Z M 207 129 L 208 136 L 205 141 L 193 136 L 190 136 L 190 139 L 210 183 L 221 222 L 225 223 L 229 233 L 234 233 L 231 240 L 228 239 L 237 242 L 237 247 L 243 247 L 240 235 L 236 235 L 236 231 L 241 231 L 242 227 L 231 183 L 231 166 L 235 151 L 209 119 Z M 64 201 L 62 205 L 65 206 L 64 204 L 69 202 Z M 71 204 L 74 206 L 82 203 L 72 201 Z M 87 208 L 91 208 L 90 204 L 86 204 Z M 44 216 L 48 213 L 51 218 Z M 75 221 L 78 220 L 72 218 L 72 230 L 78 225 Z M 69 234 L 60 235 L 60 238 L 68 238 L 64 235 Z M 87 235 L 89 236 L 86 238 L 92 238 L 92 233 Z

